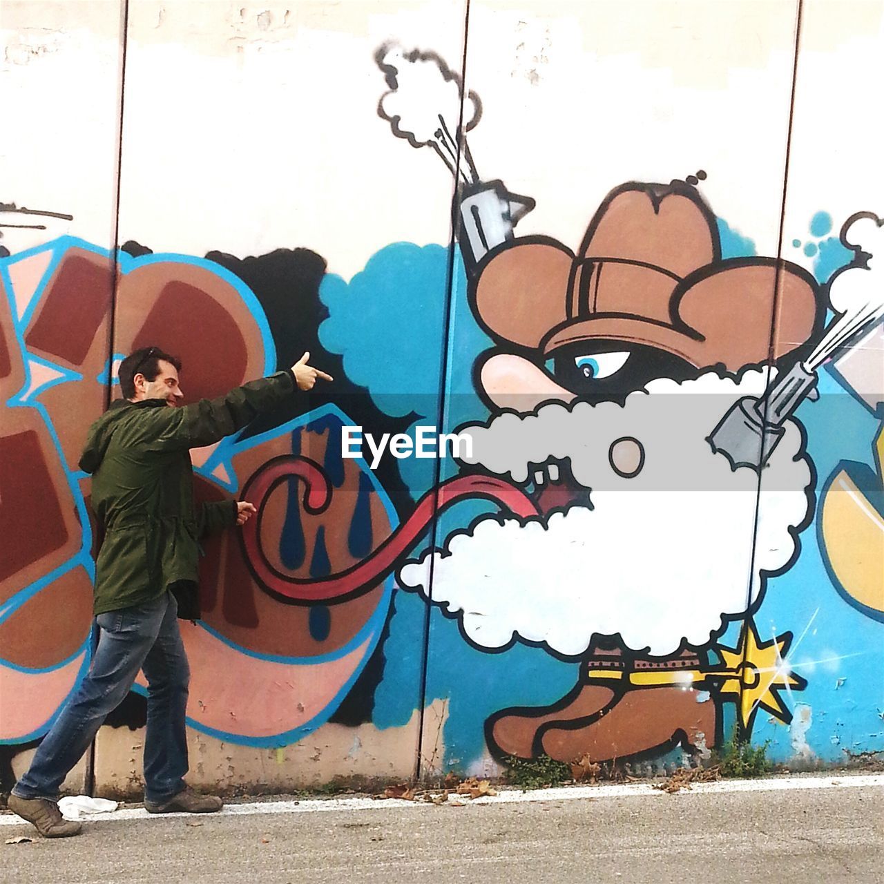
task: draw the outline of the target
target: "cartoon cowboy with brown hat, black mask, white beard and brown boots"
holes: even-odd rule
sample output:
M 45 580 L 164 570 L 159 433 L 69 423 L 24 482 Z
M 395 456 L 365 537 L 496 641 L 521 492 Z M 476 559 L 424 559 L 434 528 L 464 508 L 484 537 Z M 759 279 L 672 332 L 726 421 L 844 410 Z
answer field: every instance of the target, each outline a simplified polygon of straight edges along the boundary
M 475 370 L 492 418 L 460 428 L 469 462 L 522 484 L 544 516 L 449 538 L 431 598 L 480 648 L 518 638 L 582 661 L 557 703 L 492 715 L 492 752 L 604 761 L 713 745 L 717 701 L 698 701 L 722 682 L 705 652 L 795 559 L 813 473 L 790 420 L 752 555 L 758 474 L 706 437 L 764 389 L 762 366 L 794 362 L 819 332 L 818 286 L 773 258 L 722 260 L 712 211 L 673 181 L 613 190 L 578 255 L 507 240 L 470 296 L 495 346 Z M 428 571 L 424 555 L 400 583 L 429 597 Z

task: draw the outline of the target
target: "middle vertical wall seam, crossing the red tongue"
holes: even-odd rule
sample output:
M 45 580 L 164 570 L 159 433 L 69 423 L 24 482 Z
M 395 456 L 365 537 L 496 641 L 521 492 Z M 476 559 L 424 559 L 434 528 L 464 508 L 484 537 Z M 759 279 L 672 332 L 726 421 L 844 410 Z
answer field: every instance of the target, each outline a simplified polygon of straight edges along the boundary
M 437 409 L 437 432 L 442 432 L 446 419 L 446 393 L 448 388 L 448 349 L 451 345 L 451 320 L 453 316 L 453 300 L 454 300 L 454 259 L 457 254 L 457 232 L 460 225 L 460 214 L 458 213 L 458 193 L 460 192 L 460 179 L 458 178 L 461 171 L 461 158 L 463 156 L 463 107 L 467 96 L 467 43 L 469 39 L 469 0 L 465 0 L 464 16 L 463 16 L 463 54 L 461 57 L 461 107 L 458 112 L 457 122 L 457 153 L 454 159 L 454 184 L 452 190 L 451 207 L 449 216 L 451 219 L 451 233 L 448 240 L 448 263 L 446 267 L 446 305 L 443 313 L 442 322 L 442 353 L 439 365 L 439 387 L 438 387 L 438 409 Z M 427 704 L 427 682 L 430 667 L 430 626 L 432 613 L 433 598 L 433 578 L 436 566 L 436 558 L 433 551 L 436 548 L 438 540 L 438 502 L 439 502 L 439 484 L 442 477 L 442 461 L 441 452 L 433 464 L 433 515 L 431 519 L 430 537 L 430 572 L 427 579 L 427 605 L 423 616 L 423 655 L 421 667 L 421 681 L 418 692 L 418 731 L 417 731 L 417 758 L 415 759 L 415 779 L 420 779 L 423 775 L 423 726 L 425 719 L 425 710 Z M 440 723 L 441 727 L 441 723 Z

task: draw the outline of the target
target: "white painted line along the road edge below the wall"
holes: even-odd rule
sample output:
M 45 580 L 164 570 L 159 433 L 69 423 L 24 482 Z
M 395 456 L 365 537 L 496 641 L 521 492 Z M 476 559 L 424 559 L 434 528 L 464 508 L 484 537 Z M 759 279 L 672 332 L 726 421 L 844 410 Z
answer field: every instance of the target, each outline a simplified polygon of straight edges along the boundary
M 720 780 L 717 782 L 700 782 L 692 785 L 690 790 L 682 791 L 682 795 L 708 795 L 725 792 L 780 792 L 790 789 L 859 789 L 873 786 L 884 786 L 884 774 L 868 775 L 831 775 L 808 777 L 775 777 L 762 780 Z M 463 804 L 514 804 L 533 801 L 575 801 L 586 798 L 625 798 L 633 796 L 667 796 L 660 789 L 654 789 L 651 783 L 628 783 L 621 786 L 565 786 L 560 789 L 532 789 L 522 792 L 518 789 L 507 789 L 499 795 L 486 795 L 470 800 L 464 798 Z M 451 804 L 459 804 L 460 796 L 451 796 Z M 255 813 L 313 813 L 320 811 L 377 811 L 385 807 L 432 807 L 424 801 L 403 801 L 399 798 L 310 798 L 303 801 L 262 801 L 252 804 L 228 804 L 217 816 L 248 816 Z M 444 805 L 443 805 L 444 806 Z M 98 813 L 85 817 L 84 822 L 103 819 L 169 819 L 188 817 L 186 813 L 151 814 L 141 808 L 131 808 L 110 813 Z M 18 826 L 23 822 L 14 813 L 0 814 L 0 826 Z

